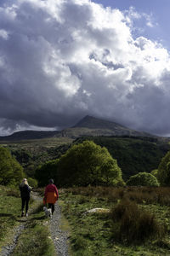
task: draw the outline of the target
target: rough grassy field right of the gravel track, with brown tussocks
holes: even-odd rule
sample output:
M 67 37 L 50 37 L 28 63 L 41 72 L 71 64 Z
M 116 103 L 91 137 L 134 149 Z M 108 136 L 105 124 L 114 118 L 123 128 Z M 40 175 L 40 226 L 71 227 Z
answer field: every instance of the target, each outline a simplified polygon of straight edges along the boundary
M 72 256 L 169 255 L 170 189 L 65 189 L 60 199 L 71 225 Z M 127 207 L 122 200 L 130 200 Z M 110 212 L 86 213 L 97 207 Z

